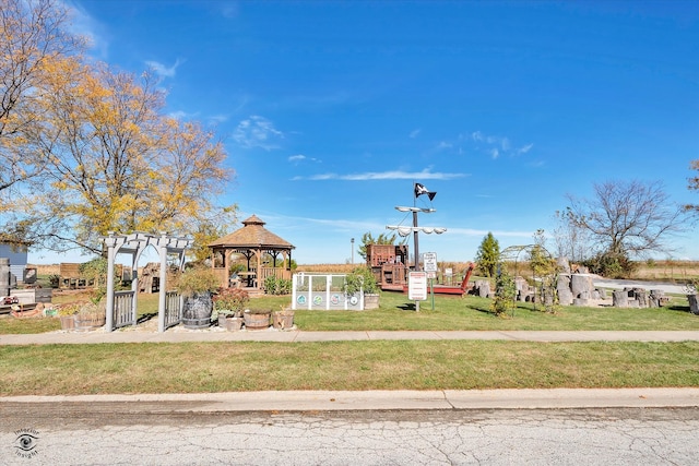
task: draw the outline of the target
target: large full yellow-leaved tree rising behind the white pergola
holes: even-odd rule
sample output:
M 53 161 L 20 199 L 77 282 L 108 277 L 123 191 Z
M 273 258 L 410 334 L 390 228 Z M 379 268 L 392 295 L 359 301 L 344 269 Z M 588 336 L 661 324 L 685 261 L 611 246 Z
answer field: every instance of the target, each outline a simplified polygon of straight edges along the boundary
M 162 115 L 164 95 L 147 73 L 72 59 L 54 65 L 29 140 L 49 181 L 34 216 L 37 239 L 100 252 L 108 231 L 192 235 L 235 214 L 213 201 L 233 176 L 223 145 L 200 124 Z

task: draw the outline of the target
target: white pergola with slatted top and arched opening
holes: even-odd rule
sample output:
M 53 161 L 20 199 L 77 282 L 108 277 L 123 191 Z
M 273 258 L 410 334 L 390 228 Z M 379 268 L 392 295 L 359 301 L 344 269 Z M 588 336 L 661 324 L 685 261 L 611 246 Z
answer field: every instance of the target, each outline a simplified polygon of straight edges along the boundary
M 179 268 L 185 266 L 185 251 L 192 243 L 189 238 L 177 238 L 161 232 L 159 236 L 146 232 L 133 232 L 130 235 L 116 235 L 109 231 L 108 236 L 103 237 L 102 241 L 107 247 L 107 332 L 114 331 L 114 270 L 115 259 L 118 253 L 131 254 L 131 289 L 133 291 L 133 322 L 137 316 L 137 297 L 139 292 L 138 264 L 143 251 L 153 246 L 161 259 L 161 286 L 157 310 L 157 331 L 165 332 L 165 295 L 167 292 L 167 254 L 178 254 Z

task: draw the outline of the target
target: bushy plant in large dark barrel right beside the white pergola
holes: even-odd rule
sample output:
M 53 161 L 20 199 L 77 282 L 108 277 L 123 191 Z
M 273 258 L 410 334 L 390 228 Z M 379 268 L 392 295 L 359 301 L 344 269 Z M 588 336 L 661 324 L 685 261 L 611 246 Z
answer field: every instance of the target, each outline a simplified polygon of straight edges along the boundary
M 213 312 L 212 294 L 218 289 L 218 277 L 209 267 L 196 266 L 177 277 L 175 289 L 182 296 L 182 324 L 187 328 L 206 328 Z

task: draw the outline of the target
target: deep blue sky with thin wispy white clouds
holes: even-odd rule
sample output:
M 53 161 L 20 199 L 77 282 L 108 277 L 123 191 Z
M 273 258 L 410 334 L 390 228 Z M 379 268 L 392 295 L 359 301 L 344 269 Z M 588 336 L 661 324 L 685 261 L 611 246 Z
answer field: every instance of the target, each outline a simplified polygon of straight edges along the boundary
M 168 112 L 216 127 L 237 174 L 221 204 L 300 264 L 347 262 L 351 238 L 410 224 L 394 207 L 414 182 L 437 192 L 419 224 L 448 231 L 419 250 L 440 261 L 473 260 L 488 231 L 501 248 L 550 237 L 566 194 L 594 182 L 662 180 L 699 203 L 694 1 L 68 4 L 92 56 L 153 68 Z M 699 259 L 698 239 L 659 256 Z

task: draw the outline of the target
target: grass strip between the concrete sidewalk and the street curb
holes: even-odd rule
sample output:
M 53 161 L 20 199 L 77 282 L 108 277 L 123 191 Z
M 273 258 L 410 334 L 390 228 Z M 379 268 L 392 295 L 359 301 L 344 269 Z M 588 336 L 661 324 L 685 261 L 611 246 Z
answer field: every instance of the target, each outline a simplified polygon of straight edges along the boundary
M 0 346 L 0 396 L 699 386 L 697 360 L 697 342 Z

